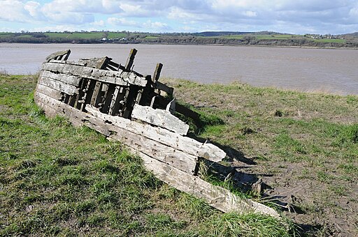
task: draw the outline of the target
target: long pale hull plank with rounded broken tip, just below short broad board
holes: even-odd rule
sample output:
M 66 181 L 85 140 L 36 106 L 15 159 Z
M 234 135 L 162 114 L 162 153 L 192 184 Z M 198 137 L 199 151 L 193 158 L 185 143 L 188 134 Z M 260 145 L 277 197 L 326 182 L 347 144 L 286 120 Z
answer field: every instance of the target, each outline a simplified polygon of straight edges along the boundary
M 185 153 L 196 155 L 213 162 L 219 162 L 225 158 L 226 153 L 213 144 L 202 144 L 190 137 L 183 137 L 176 132 L 171 132 L 164 128 L 153 127 L 136 121 L 130 121 L 119 116 L 110 116 L 99 112 L 99 109 L 86 105 L 86 110 L 102 121 L 108 121 L 113 125 L 134 132 L 137 135 L 148 137 L 167 146 L 171 146 Z

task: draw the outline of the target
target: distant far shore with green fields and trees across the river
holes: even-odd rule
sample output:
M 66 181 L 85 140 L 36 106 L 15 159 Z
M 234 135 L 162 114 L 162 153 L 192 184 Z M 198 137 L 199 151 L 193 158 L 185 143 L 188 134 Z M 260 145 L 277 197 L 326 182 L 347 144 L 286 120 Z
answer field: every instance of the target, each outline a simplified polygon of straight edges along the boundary
M 141 33 L 128 31 L 0 32 L 0 43 L 229 45 L 358 49 L 358 33 L 333 36 L 262 32 Z

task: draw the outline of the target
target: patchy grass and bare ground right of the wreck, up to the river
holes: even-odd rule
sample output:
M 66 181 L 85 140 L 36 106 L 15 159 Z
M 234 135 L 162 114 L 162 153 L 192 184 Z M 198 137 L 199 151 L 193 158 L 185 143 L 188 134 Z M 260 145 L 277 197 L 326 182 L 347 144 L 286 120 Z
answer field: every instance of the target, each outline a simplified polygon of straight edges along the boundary
M 263 178 L 301 213 L 287 215 L 323 236 L 358 234 L 357 95 L 168 82 L 176 98 L 223 119 L 200 136 L 235 151 L 238 182 Z

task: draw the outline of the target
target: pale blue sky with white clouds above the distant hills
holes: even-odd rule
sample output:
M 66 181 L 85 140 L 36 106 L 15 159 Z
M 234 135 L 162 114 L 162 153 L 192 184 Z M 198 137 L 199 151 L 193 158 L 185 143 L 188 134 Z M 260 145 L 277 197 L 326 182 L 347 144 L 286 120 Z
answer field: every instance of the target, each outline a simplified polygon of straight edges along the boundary
M 358 31 L 358 0 L 0 0 L 0 31 Z

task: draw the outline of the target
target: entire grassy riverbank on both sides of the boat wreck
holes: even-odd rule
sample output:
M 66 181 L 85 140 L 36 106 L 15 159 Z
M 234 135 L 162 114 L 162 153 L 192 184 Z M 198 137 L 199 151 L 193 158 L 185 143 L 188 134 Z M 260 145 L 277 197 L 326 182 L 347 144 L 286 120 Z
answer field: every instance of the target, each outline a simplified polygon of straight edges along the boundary
M 306 234 L 357 231 L 357 96 L 167 82 L 181 102 L 222 119 L 196 132 L 225 148 L 238 174 L 292 199 L 302 214 L 282 215 Z M 271 217 L 220 213 L 158 181 L 121 144 L 46 119 L 35 85 L 0 76 L 0 236 L 295 234 Z

